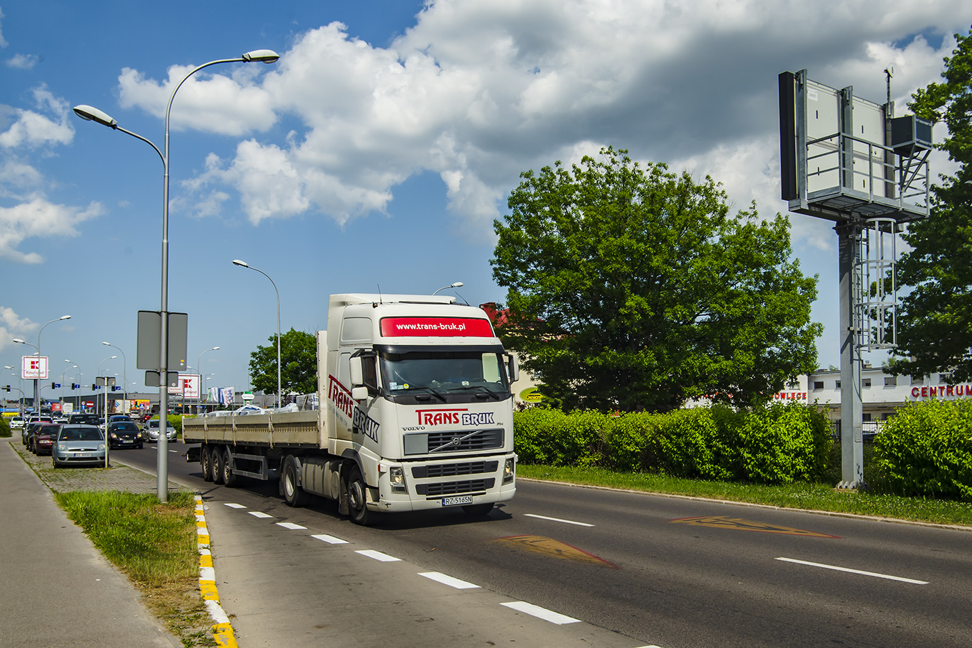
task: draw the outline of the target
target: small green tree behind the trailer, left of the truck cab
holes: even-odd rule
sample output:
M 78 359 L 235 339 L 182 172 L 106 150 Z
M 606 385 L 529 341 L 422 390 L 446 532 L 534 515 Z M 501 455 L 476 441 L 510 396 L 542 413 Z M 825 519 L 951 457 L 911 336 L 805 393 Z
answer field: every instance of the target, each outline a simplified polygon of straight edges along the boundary
M 277 393 L 277 334 L 270 343 L 250 354 L 250 380 L 254 389 Z M 280 385 L 286 398 L 290 392 L 317 391 L 317 343 L 314 335 L 293 328 L 280 336 Z

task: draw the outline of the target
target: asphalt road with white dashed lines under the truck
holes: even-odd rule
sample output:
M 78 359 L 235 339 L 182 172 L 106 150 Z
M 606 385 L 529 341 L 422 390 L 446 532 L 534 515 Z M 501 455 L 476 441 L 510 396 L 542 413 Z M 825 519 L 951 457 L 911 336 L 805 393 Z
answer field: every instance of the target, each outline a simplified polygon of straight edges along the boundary
M 386 516 L 362 528 L 337 516 L 333 504 L 323 500 L 306 509 L 287 507 L 275 484 L 244 481 L 226 488 L 204 483 L 198 465 L 178 456 L 186 447 L 178 443 L 171 448 L 170 478 L 204 494 L 215 516 L 215 533 L 221 525 L 232 529 L 222 541 L 215 536 L 214 554 L 218 578 L 226 581 L 220 590 L 227 611 L 237 614 L 234 628 L 248 636 L 252 632 L 251 643 L 241 636 L 243 646 L 272 645 L 260 643 L 265 639 L 260 638 L 258 613 L 280 606 L 281 587 L 316 593 L 295 595 L 296 607 L 277 610 L 292 615 L 290 626 L 315 614 L 333 621 L 342 609 L 344 627 L 370 623 L 383 629 L 373 635 L 356 630 L 361 645 L 368 645 L 364 637 L 373 645 L 388 638 L 390 629 L 414 629 L 421 623 L 422 614 L 410 605 L 434 596 L 424 589 L 427 578 L 400 573 L 371 600 L 362 588 L 371 592 L 373 583 L 387 583 L 385 567 L 378 561 L 367 568 L 334 562 L 355 554 L 339 554 L 342 545 L 315 541 L 313 535 L 400 558 L 407 567 L 396 566 L 408 574 L 435 571 L 480 586 L 479 598 L 465 595 L 469 590 L 461 598 L 451 597 L 444 608 L 435 608 L 435 623 L 422 633 L 397 637 L 399 645 L 454 646 L 460 636 L 469 641 L 458 644 L 468 645 L 484 638 L 483 645 L 519 641 L 631 648 L 972 645 L 968 531 L 524 481 L 518 483 L 516 498 L 486 520 L 447 511 Z M 114 458 L 154 470 L 156 450 L 121 450 Z M 254 512 L 269 516 L 267 523 L 260 524 Z M 280 522 L 307 530 L 287 535 Z M 318 560 L 324 561 L 320 569 L 309 568 Z M 333 564 L 348 576 L 338 579 L 337 588 L 335 571 L 328 566 Z M 254 572 L 259 572 L 256 578 Z M 284 573 L 291 574 L 293 586 L 281 586 L 273 576 Z M 271 585 L 275 580 L 278 584 Z M 508 608 L 499 608 L 502 601 L 483 605 L 487 593 L 583 623 L 558 626 L 519 612 L 511 616 Z M 301 609 L 314 596 L 324 601 L 327 614 L 316 607 Z M 385 606 L 381 611 L 363 608 L 369 610 L 363 614 L 342 602 L 357 596 L 364 596 L 362 604 L 380 599 Z M 474 600 L 477 607 L 469 611 Z M 403 617 L 394 614 L 406 608 Z M 462 620 L 460 630 L 442 629 L 451 614 Z M 469 621 L 472 615 L 476 624 Z M 488 638 L 498 625 L 512 634 Z M 273 630 L 278 638 L 280 631 Z M 313 631 L 307 629 L 306 635 Z

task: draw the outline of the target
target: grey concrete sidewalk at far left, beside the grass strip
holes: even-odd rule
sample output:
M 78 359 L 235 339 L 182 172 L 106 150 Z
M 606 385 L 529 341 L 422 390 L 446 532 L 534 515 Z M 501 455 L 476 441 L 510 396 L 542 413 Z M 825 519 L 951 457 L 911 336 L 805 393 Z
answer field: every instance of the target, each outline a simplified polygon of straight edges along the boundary
M 17 431 L 11 439 L 0 439 L 0 643 L 44 648 L 182 645 L 149 614 L 128 579 L 67 519 L 48 486 L 14 450 L 19 443 Z M 133 468 L 101 472 L 115 474 L 105 480 L 105 489 L 139 491 L 144 481 L 151 486 L 146 492 L 156 491 L 155 476 Z M 117 480 L 121 483 L 109 484 Z

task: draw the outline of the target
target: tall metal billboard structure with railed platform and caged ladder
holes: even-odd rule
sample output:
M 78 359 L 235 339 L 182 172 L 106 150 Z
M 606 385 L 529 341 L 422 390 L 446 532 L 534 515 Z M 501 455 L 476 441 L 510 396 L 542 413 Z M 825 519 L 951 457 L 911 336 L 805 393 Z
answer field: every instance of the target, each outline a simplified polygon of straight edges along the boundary
M 861 353 L 897 340 L 897 234 L 930 207 L 931 124 L 812 81 L 780 80 L 781 198 L 835 223 L 840 270 L 842 481 L 863 484 Z M 888 74 L 888 81 L 890 75 Z M 890 92 L 888 92 L 888 95 Z M 848 431 L 852 431 L 848 434 Z

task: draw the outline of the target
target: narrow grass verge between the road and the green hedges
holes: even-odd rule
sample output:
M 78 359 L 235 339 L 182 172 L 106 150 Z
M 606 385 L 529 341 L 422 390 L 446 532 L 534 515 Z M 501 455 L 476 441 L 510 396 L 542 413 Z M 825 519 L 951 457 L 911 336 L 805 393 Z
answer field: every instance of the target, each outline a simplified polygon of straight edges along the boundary
M 838 491 L 820 484 L 758 486 L 728 482 L 686 480 L 665 475 L 617 473 L 603 468 L 563 468 L 517 465 L 516 474 L 527 479 L 606 486 L 643 492 L 706 497 L 805 511 L 851 513 L 913 522 L 972 527 L 972 503 L 898 497 L 868 492 Z

